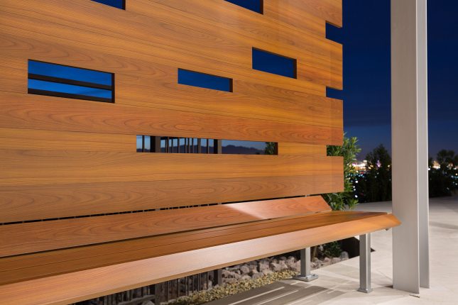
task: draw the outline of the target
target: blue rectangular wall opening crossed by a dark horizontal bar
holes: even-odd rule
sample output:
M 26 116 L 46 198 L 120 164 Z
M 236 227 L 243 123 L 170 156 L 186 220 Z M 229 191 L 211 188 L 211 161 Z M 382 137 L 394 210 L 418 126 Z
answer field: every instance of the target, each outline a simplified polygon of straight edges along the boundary
M 28 93 L 114 103 L 114 74 L 28 60 Z

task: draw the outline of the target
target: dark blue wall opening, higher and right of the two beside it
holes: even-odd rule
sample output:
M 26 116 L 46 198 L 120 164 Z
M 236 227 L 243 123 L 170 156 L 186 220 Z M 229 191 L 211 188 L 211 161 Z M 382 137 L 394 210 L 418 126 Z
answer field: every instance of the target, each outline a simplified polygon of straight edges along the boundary
M 294 58 L 253 48 L 253 69 L 297 78 L 298 62 Z

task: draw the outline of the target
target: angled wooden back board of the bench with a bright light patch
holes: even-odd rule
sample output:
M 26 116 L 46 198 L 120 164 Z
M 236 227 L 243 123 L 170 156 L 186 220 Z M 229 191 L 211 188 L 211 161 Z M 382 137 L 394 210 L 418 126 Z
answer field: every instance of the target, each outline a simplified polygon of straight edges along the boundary
M 331 209 L 321 196 L 0 226 L 0 257 Z

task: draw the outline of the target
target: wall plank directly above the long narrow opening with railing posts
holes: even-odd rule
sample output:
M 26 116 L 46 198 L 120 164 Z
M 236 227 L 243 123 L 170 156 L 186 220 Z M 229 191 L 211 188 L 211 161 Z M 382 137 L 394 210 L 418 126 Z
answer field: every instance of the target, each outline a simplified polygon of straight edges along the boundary
M 342 127 L 103 104 L 53 96 L 0 92 L 0 127 L 168 135 L 266 142 L 342 144 Z

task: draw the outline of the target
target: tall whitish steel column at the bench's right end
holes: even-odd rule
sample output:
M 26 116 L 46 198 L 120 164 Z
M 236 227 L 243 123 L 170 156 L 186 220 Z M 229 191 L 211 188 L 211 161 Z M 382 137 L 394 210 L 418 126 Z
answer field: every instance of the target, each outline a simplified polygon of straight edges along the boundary
M 427 0 L 391 0 L 393 287 L 429 287 Z

